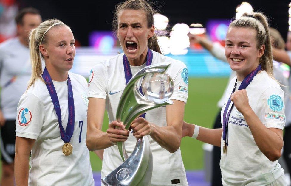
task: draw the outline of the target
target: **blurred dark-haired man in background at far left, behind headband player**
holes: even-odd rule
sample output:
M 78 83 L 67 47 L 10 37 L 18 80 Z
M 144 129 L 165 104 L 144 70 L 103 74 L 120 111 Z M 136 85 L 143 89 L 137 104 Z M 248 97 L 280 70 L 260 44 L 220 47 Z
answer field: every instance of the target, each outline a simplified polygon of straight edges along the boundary
M 31 75 L 28 36 L 30 30 L 41 23 L 41 16 L 34 8 L 20 10 L 15 18 L 17 37 L 0 44 L 1 85 L 1 185 L 14 185 L 15 118 L 17 104 L 27 88 Z

